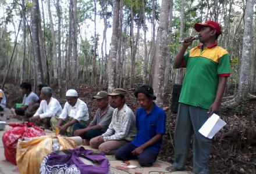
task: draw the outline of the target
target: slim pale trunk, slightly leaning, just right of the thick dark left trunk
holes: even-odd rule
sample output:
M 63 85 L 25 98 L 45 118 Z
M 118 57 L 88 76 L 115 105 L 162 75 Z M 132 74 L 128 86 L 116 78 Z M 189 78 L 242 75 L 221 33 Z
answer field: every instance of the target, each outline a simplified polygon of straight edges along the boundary
M 52 22 L 50 0 L 47 0 L 47 8 L 48 8 L 49 23 L 50 23 L 51 38 L 52 38 L 52 62 L 54 65 L 54 80 L 52 82 L 53 82 L 53 85 L 56 86 L 58 82 L 58 64 L 57 64 L 57 55 L 56 55 L 56 39 L 55 39 L 54 23 Z

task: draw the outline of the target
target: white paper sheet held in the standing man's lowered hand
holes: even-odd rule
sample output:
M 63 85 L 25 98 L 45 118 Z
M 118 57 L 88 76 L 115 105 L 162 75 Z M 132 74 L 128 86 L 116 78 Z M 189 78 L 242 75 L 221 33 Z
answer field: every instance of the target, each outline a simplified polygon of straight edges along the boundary
M 225 125 L 226 122 L 219 118 L 219 115 L 212 114 L 212 116 L 207 119 L 198 132 L 205 137 L 212 139 L 212 137 L 214 137 L 214 135 Z

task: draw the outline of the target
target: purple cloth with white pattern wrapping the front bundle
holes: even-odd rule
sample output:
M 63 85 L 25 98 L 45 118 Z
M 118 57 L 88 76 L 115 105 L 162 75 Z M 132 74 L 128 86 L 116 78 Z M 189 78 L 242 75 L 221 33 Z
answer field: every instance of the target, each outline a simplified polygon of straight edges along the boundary
M 104 154 L 91 154 L 92 150 L 84 147 L 63 151 L 65 154 L 51 153 L 42 161 L 40 174 L 48 173 L 90 173 L 105 174 L 109 171 L 109 162 Z M 97 166 L 84 164 L 79 157 L 86 158 L 92 162 L 97 162 Z

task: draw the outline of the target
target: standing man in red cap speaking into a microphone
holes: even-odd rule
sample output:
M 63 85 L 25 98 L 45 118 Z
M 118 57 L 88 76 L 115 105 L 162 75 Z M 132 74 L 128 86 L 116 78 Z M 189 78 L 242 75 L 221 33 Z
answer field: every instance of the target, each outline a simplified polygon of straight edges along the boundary
M 183 171 L 187 150 L 193 132 L 193 172 L 208 173 L 208 158 L 212 140 L 198 130 L 212 113 L 218 113 L 230 75 L 229 54 L 216 43 L 222 33 L 215 21 L 196 23 L 200 45 L 190 49 L 193 37 L 187 37 L 177 53 L 175 68 L 186 67 L 186 75 L 179 99 L 179 110 L 175 126 L 175 161 L 166 170 Z

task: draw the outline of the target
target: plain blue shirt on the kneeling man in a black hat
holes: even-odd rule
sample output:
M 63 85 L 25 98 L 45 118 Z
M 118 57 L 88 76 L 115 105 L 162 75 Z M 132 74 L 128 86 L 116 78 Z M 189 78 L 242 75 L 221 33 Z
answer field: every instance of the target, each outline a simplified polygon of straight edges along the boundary
M 138 108 L 136 112 L 137 135 L 131 142 L 136 147 L 148 142 L 157 134 L 165 134 L 166 115 L 162 108 L 154 104 L 154 107 L 148 114 L 144 108 Z M 157 143 L 147 147 L 159 153 L 162 145 L 162 139 Z

